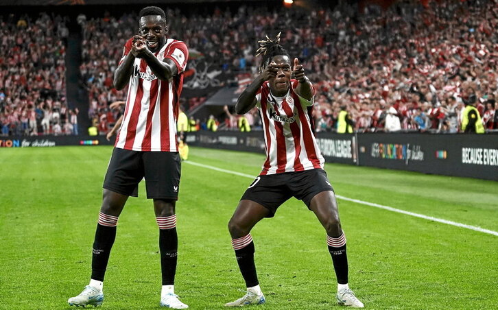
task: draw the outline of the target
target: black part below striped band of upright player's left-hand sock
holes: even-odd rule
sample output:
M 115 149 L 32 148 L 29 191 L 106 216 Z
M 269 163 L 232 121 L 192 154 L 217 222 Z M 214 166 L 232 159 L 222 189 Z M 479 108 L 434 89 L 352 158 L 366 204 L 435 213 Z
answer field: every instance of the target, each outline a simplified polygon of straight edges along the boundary
M 97 224 L 93 241 L 92 276 L 93 280 L 104 281 L 110 250 L 116 239 L 116 226 Z

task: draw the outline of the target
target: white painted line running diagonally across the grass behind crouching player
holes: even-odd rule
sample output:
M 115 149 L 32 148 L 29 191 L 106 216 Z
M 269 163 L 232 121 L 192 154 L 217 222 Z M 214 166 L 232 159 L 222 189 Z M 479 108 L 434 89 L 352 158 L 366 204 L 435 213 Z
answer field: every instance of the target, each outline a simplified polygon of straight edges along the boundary
M 250 178 L 250 179 L 256 178 L 255 176 L 251 176 L 249 174 L 241 174 L 240 172 L 237 172 L 237 171 L 231 171 L 231 170 L 226 170 L 226 169 L 222 169 L 222 168 L 218 168 L 218 167 L 213 167 L 213 166 L 210 166 L 210 165 L 204 165 L 204 164 L 200 164 L 200 163 L 195 163 L 193 161 L 184 161 L 183 163 L 186 163 L 186 164 L 189 164 L 189 165 L 198 166 L 198 167 L 203 167 L 203 168 L 211 169 L 211 170 L 215 170 L 215 171 L 224 172 L 226 174 L 235 174 L 235 176 L 244 176 L 245 178 Z M 357 199 L 353 199 L 353 198 L 347 198 L 347 197 L 344 197 L 342 195 L 335 195 L 335 197 L 337 197 L 339 199 L 342 199 L 342 200 L 347 200 L 347 201 L 350 201 L 350 202 L 355 202 L 357 204 L 364 204 L 366 206 L 373 206 L 375 208 L 382 208 L 384 210 L 388 210 L 388 211 L 392 211 L 392 212 L 396 212 L 396 213 L 401 213 L 401 214 L 405 214 L 405 215 L 411 215 L 411 216 L 414 216 L 414 217 L 420 217 L 421 219 L 428 219 L 429 221 L 439 222 L 439 223 L 442 223 L 442 224 L 448 224 L 448 225 L 451 225 L 451 226 L 457 226 L 457 227 L 461 227 L 461 228 L 467 228 L 467 229 L 470 229 L 470 230 L 478 231 L 480 233 L 486 233 L 486 234 L 489 234 L 489 235 L 498 236 L 498 232 L 497 231 L 489 230 L 489 229 L 485 229 L 485 228 L 480 228 L 478 226 L 471 226 L 471 225 L 467 225 L 467 224 L 453 222 L 453 221 L 449 221 L 447 219 L 438 219 L 437 217 L 431 217 L 431 216 L 427 216 L 427 215 L 423 215 L 423 214 L 413 213 L 413 212 L 410 212 L 410 211 L 404 211 L 404 210 L 401 210 L 399 208 L 392 208 L 391 206 L 383 206 L 382 204 L 375 204 L 373 202 L 366 202 L 366 201 L 363 201 L 363 200 L 357 200 Z

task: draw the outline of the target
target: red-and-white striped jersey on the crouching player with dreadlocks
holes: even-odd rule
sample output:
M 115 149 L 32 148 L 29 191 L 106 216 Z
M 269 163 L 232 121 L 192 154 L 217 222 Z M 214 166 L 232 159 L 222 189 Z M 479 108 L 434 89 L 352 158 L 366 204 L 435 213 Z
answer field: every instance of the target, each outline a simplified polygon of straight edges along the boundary
M 270 93 L 267 81 L 256 95 L 265 132 L 266 160 L 262 176 L 323 168 L 325 160 L 307 113 L 313 99 L 308 101 L 296 94 L 297 80 L 291 80 L 291 84 L 287 95 L 276 97 Z

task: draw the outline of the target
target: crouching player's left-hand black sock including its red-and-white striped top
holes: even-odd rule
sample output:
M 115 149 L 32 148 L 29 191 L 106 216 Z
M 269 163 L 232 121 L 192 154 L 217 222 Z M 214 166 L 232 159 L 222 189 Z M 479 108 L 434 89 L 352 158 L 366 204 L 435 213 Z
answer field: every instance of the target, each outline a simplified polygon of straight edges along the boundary
M 233 250 L 239 264 L 239 269 L 246 281 L 246 287 L 255 287 L 259 285 L 258 276 L 256 274 L 256 266 L 254 265 L 254 242 L 250 234 L 232 239 Z

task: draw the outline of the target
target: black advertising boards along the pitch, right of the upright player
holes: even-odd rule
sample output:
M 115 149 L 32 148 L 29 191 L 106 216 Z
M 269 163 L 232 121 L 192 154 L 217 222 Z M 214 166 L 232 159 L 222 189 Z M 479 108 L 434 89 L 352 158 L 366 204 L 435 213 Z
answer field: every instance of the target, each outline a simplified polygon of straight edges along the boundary
M 496 134 L 318 133 L 327 163 L 498 180 Z M 189 132 L 189 145 L 265 152 L 262 132 Z

